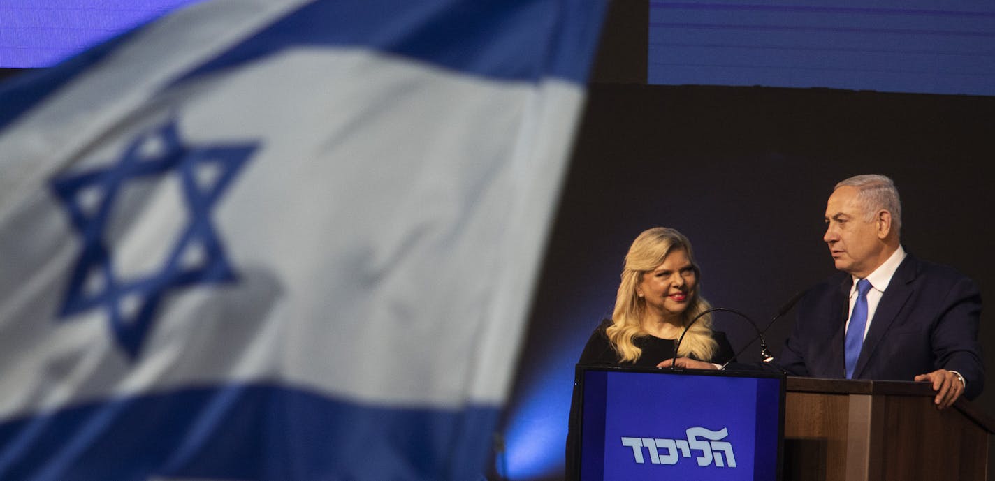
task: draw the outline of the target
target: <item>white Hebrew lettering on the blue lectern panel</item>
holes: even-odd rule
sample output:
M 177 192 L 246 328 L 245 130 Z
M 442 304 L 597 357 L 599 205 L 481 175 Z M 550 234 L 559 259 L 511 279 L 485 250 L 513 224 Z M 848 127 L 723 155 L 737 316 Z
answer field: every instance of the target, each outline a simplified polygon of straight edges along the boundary
M 687 439 L 661 439 L 659 437 L 627 437 L 622 436 L 622 445 L 632 448 L 636 462 L 643 464 L 643 450 L 650 454 L 653 464 L 677 464 L 682 457 L 691 457 L 692 451 L 701 451 L 697 456 L 698 466 L 715 466 L 734 468 L 736 457 L 732 454 L 732 444 L 722 439 L 728 434 L 728 429 L 712 431 L 704 427 L 689 427 Z M 724 453 L 724 459 L 722 454 Z

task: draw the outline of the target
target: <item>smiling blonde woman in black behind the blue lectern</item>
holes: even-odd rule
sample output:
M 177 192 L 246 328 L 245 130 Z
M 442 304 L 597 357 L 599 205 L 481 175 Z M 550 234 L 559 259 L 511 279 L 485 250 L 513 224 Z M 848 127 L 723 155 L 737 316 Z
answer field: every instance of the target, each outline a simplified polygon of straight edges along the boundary
M 640 234 L 625 256 L 612 318 L 591 334 L 580 364 L 664 367 L 678 358 L 678 366 L 715 369 L 730 361 L 732 346 L 711 329 L 710 315 L 698 319 L 674 350 L 685 328 L 709 308 L 699 277 L 684 235 L 667 228 Z

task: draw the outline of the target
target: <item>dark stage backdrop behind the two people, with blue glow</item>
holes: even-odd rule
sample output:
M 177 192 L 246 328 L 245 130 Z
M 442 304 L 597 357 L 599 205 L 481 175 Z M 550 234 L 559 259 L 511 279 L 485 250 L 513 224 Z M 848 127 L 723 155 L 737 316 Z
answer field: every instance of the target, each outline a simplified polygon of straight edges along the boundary
M 763 328 L 834 272 L 822 236 L 836 182 L 885 174 L 901 196 L 905 249 L 955 266 L 984 299 L 995 287 L 995 97 L 648 85 L 645 9 L 615 2 L 603 33 L 501 429 L 497 466 L 511 479 L 561 479 L 573 364 L 611 315 L 623 256 L 645 229 L 687 235 L 702 294 Z M 974 402 L 995 416 L 990 311 L 987 386 Z M 767 331 L 775 355 L 793 323 L 791 313 Z M 746 322 L 719 313 L 715 325 L 745 349 L 741 360 L 758 360 Z

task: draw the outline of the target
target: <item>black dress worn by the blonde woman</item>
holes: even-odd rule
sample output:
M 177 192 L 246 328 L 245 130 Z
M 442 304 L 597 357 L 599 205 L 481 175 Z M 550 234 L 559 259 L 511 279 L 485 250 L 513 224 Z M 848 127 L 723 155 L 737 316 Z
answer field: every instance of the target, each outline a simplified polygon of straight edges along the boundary
M 675 357 L 674 347 L 678 343 L 676 339 L 660 339 L 654 336 L 640 336 L 633 340 L 633 344 L 642 349 L 643 354 L 634 363 L 621 363 L 619 361 L 618 353 L 616 353 L 615 349 L 612 348 L 611 342 L 608 341 L 608 334 L 605 332 L 605 330 L 608 329 L 608 326 L 611 325 L 611 319 L 601 321 L 601 324 L 598 325 L 597 329 L 591 333 L 591 338 L 587 340 L 587 345 L 584 346 L 584 351 L 581 352 L 580 361 L 578 361 L 577 364 L 656 368 L 662 361 Z M 725 333 L 712 330 L 711 338 L 718 343 L 718 350 L 715 351 L 715 354 L 712 355 L 711 359 L 697 359 L 694 356 L 690 357 L 692 359 L 696 359 L 697 361 L 704 361 L 719 365 L 734 361 L 733 357 L 735 356 L 735 352 L 732 351 L 732 345 L 729 344 L 729 340 L 725 338 Z M 577 406 L 578 401 L 577 386 L 574 385 L 573 397 L 570 400 L 570 424 L 566 435 L 567 481 L 573 481 L 579 476 L 579 473 L 575 470 L 576 466 L 574 466 L 575 461 L 573 458 L 573 452 L 575 449 L 574 445 L 577 442 L 573 433 L 574 417 L 580 415 Z

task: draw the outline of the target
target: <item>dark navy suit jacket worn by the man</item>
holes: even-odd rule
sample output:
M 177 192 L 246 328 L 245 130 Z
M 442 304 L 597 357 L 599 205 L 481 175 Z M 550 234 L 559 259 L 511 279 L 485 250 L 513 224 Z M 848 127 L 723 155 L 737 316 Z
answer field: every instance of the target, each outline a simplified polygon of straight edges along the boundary
M 840 272 L 816 285 L 798 304 L 791 335 L 777 360 L 789 374 L 845 378 L 844 328 L 853 279 Z M 854 379 L 912 381 L 937 369 L 964 377 L 964 396 L 984 387 L 978 344 L 981 293 L 951 267 L 905 255 L 864 339 Z

